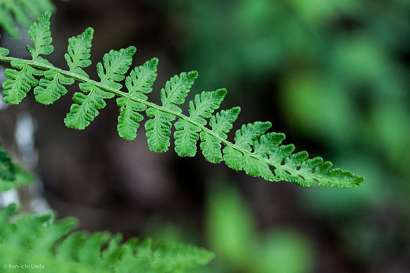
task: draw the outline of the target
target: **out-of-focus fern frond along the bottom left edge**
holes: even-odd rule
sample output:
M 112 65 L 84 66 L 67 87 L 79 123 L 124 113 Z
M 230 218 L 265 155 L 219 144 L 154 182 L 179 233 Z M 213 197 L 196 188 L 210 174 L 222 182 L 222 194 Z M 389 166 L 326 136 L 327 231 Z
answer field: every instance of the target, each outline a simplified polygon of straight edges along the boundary
M 208 264 L 214 254 L 190 245 L 132 238 L 108 232 L 88 234 L 70 231 L 75 219 L 55 221 L 53 214 L 25 214 L 10 222 L 17 212 L 12 204 L 0 211 L 0 260 L 8 265 L 41 265 L 47 272 L 175 272 Z M 31 268 L 30 268 L 31 269 Z M 30 271 L 34 271 L 31 269 Z

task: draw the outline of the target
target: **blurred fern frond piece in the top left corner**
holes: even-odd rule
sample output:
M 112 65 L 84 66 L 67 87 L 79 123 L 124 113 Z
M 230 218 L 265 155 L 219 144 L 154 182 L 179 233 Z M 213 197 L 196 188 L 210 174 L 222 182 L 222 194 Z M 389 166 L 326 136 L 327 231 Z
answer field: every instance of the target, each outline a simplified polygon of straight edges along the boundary
M 16 25 L 29 27 L 46 10 L 54 10 L 50 0 L 0 0 L 0 27 L 18 37 Z

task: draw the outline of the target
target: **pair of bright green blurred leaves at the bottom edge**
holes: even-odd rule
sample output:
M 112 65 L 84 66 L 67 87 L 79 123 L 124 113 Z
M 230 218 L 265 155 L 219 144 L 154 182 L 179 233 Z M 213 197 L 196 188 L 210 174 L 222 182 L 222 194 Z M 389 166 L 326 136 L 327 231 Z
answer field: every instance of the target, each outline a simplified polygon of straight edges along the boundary
M 290 226 L 258 233 L 252 212 L 233 186 L 218 186 L 208 196 L 207 225 L 216 268 L 224 272 L 310 272 L 315 245 Z M 217 270 L 217 269 L 215 269 Z

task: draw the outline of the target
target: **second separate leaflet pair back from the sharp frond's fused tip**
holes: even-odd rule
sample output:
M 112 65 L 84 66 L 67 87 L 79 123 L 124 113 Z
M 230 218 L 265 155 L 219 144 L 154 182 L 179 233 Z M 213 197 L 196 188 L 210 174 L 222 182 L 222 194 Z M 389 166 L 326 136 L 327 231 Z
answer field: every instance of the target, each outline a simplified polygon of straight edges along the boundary
M 218 89 L 212 92 L 202 92 L 195 96 L 194 101 L 189 102 L 188 112 L 190 120 L 197 124 L 206 125 L 215 109 L 219 108 L 224 96 L 227 94 L 226 89 Z M 196 154 L 196 143 L 199 139 L 198 132 L 202 131 L 198 125 L 190 123 L 187 119 L 179 119 L 175 126 L 175 152 L 179 156 L 193 157 Z

